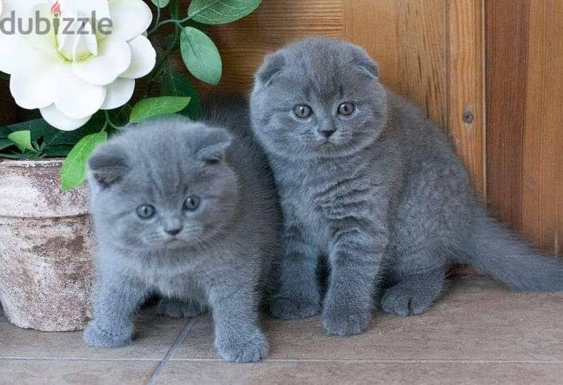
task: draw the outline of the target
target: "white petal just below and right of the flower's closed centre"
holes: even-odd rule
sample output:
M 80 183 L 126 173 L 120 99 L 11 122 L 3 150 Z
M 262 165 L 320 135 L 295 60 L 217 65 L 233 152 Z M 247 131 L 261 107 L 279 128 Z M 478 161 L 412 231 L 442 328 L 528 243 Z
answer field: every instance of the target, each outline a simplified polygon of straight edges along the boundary
M 118 79 L 131 65 L 131 48 L 122 37 L 110 35 L 100 42 L 98 56 L 72 63 L 77 77 L 90 84 L 105 86 Z

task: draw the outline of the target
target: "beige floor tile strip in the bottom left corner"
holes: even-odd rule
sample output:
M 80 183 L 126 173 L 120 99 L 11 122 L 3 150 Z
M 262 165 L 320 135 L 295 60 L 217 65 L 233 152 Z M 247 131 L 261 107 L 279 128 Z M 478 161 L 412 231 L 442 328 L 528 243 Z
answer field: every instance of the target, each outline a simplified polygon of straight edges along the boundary
M 158 361 L 0 360 L 0 384 L 142 384 Z

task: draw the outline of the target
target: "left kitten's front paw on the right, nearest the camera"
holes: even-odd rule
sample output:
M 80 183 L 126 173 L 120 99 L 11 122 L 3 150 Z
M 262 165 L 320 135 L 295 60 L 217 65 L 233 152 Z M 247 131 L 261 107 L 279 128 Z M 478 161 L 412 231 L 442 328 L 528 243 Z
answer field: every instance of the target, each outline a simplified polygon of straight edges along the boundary
M 260 330 L 248 335 L 217 337 L 215 346 L 222 358 L 235 363 L 255 363 L 268 355 L 268 343 Z

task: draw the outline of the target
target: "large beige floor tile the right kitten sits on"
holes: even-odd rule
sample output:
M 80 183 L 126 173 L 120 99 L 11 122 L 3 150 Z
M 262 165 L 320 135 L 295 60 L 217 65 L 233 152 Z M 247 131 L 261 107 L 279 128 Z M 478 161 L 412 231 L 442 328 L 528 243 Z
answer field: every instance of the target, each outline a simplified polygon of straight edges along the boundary
M 365 334 L 322 333 L 320 320 L 266 322 L 271 359 L 563 360 L 563 294 L 524 294 L 483 278 L 455 282 L 423 315 L 379 314 Z M 218 358 L 213 325 L 196 320 L 173 359 Z

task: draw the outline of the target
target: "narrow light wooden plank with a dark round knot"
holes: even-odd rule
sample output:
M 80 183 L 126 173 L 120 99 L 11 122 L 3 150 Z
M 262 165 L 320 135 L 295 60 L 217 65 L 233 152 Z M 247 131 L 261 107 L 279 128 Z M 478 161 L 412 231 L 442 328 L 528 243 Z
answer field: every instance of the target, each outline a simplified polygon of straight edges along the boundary
M 483 0 L 447 2 L 447 125 L 476 190 L 486 192 Z

